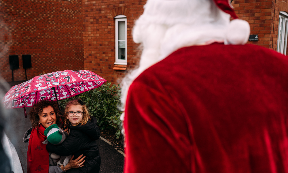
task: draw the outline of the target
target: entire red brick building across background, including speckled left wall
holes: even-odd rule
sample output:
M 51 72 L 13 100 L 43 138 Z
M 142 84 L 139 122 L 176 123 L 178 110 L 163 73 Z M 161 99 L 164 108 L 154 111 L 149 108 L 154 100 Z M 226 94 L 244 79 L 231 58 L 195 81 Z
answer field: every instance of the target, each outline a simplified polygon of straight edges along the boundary
M 33 55 L 28 78 L 42 71 L 84 68 L 117 83 L 139 63 L 141 48 L 132 40 L 132 28 L 146 0 L 0 2 L 0 19 L 13 35 L 9 54 Z M 249 22 L 251 34 L 258 35 L 258 41 L 248 44 L 288 53 L 287 0 L 234 0 L 232 5 L 239 18 Z M 7 57 L 5 54 L 0 60 L 0 73 L 11 81 Z M 19 74 L 15 80 L 24 79 L 21 64 L 14 73 Z

